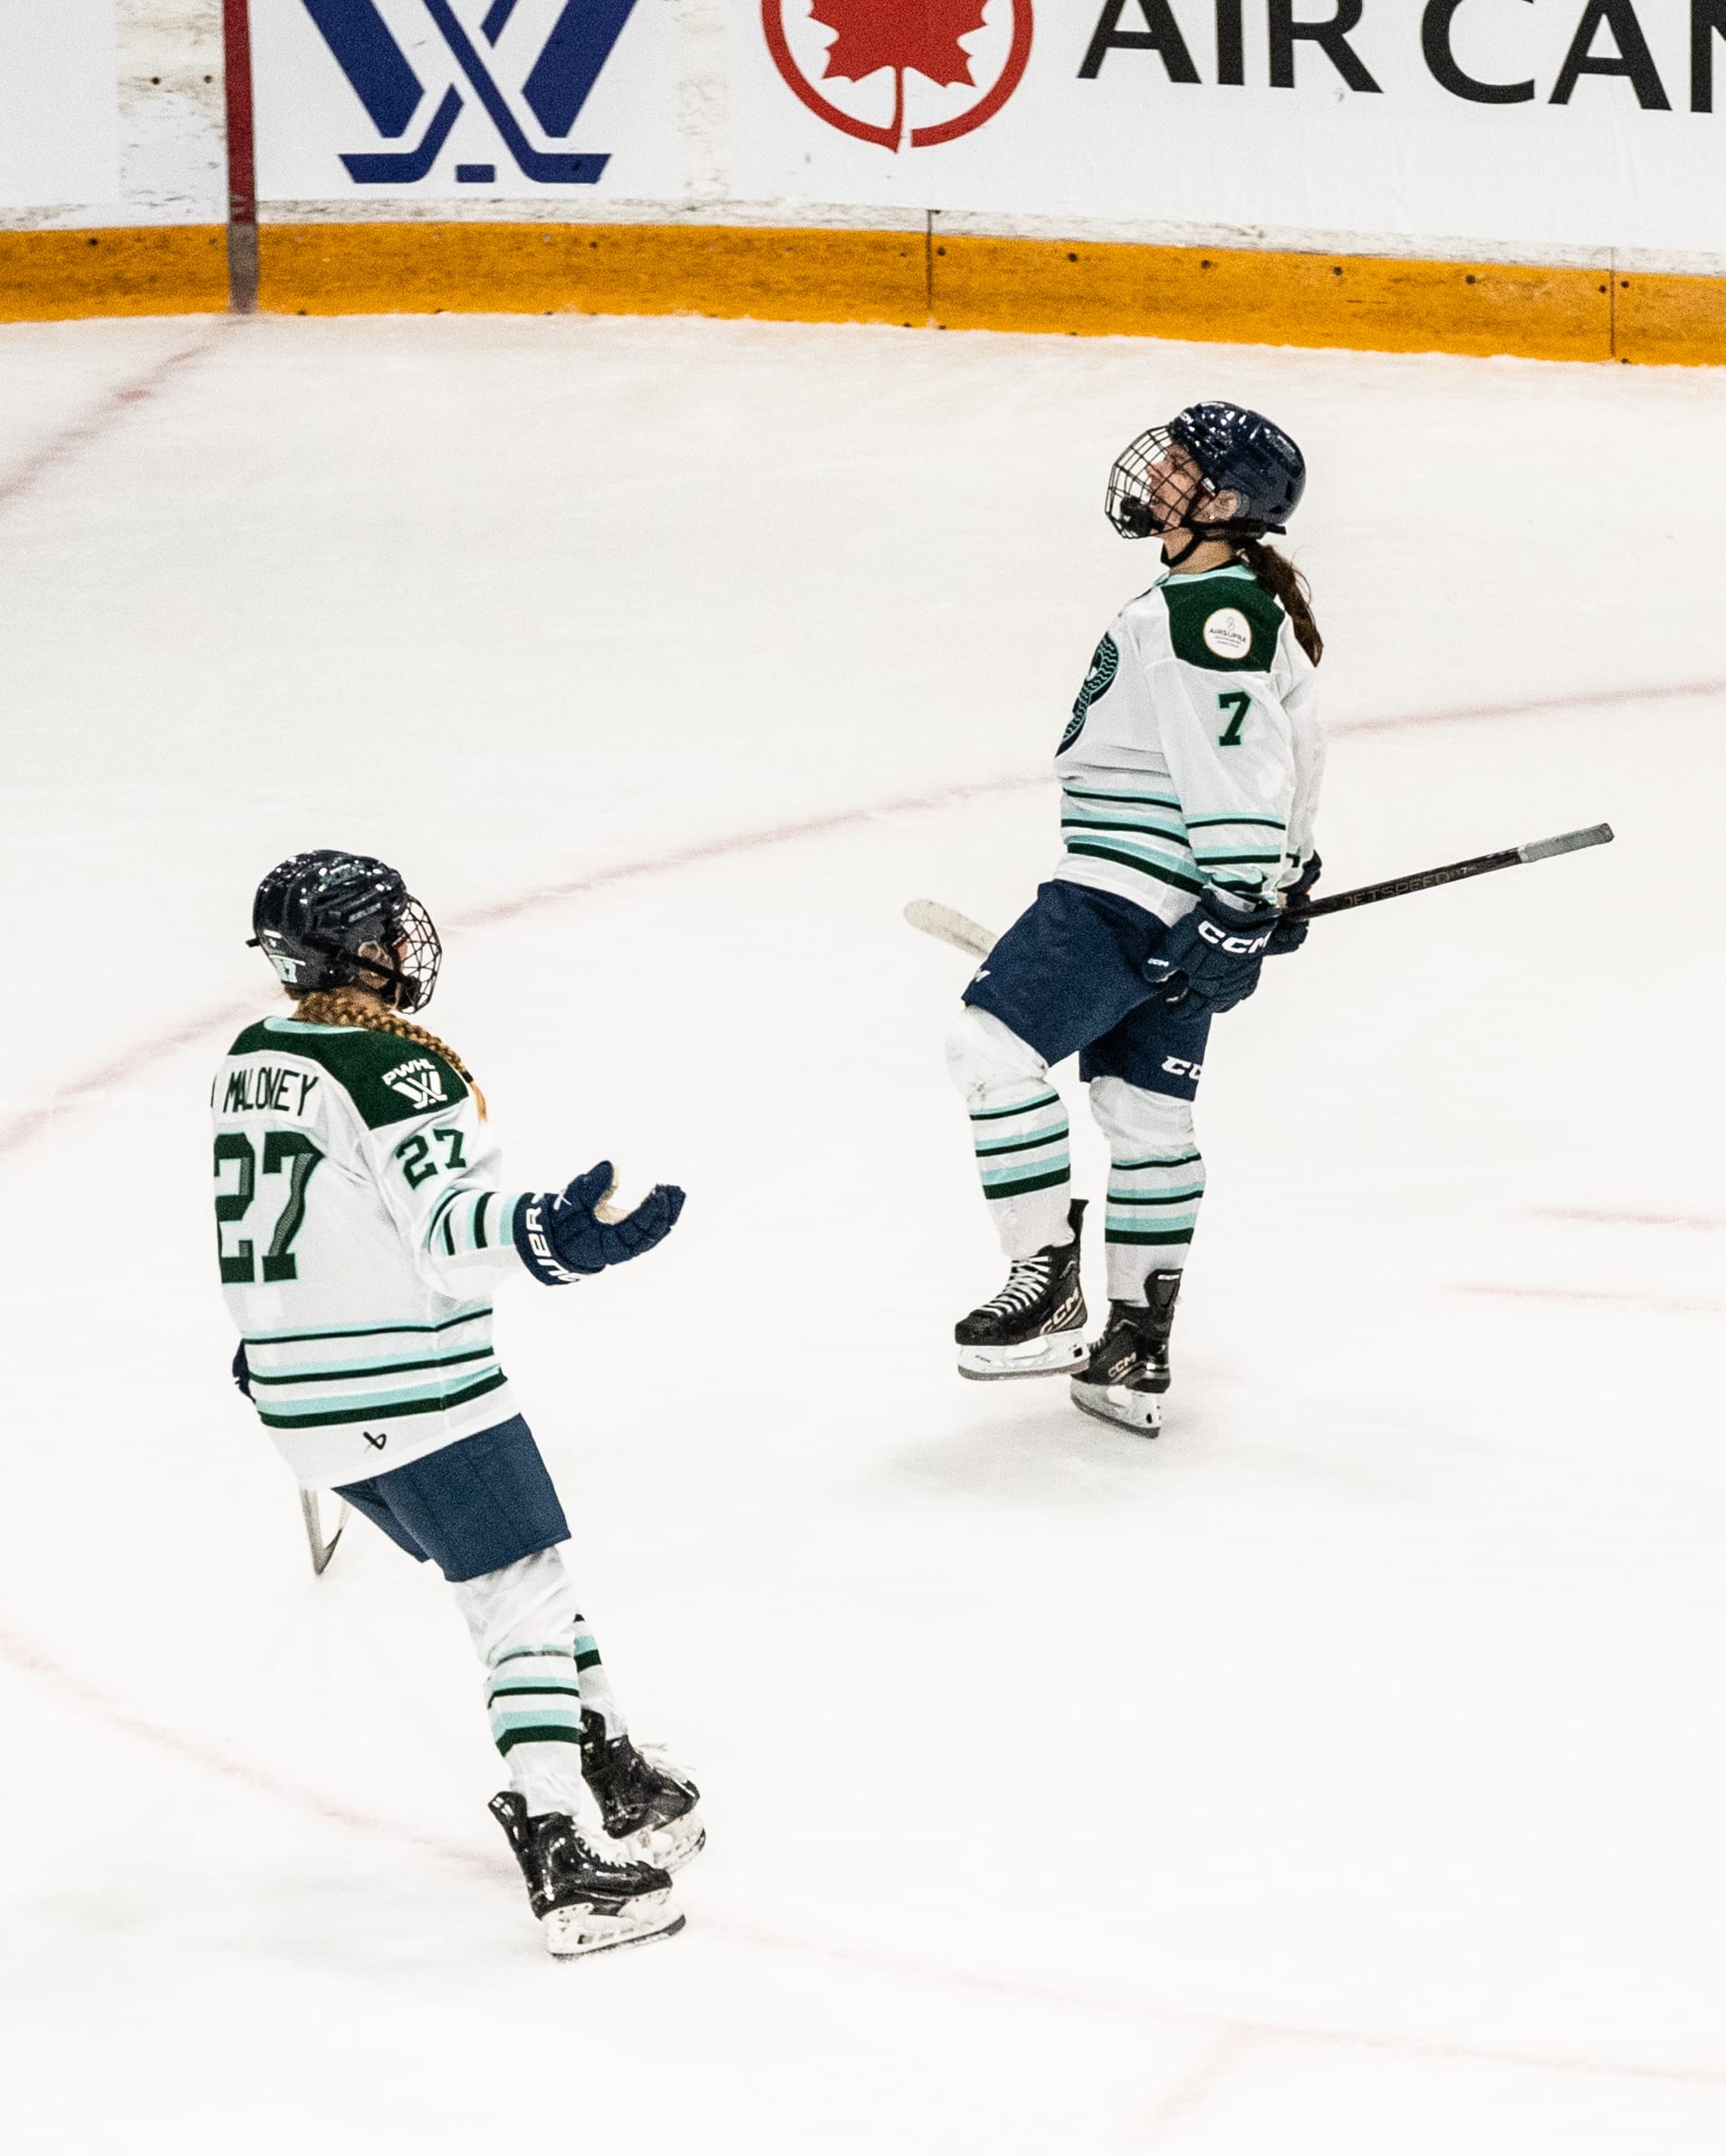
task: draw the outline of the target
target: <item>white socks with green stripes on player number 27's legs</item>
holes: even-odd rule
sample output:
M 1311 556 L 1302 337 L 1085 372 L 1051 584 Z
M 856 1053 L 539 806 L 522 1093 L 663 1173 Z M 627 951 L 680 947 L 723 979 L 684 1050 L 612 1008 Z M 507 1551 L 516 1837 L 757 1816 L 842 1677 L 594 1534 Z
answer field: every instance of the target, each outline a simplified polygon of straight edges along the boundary
M 580 1815 L 583 1708 L 624 1733 L 600 1649 L 559 1550 L 539 1550 L 451 1589 L 485 1664 L 492 1742 L 531 1813 Z

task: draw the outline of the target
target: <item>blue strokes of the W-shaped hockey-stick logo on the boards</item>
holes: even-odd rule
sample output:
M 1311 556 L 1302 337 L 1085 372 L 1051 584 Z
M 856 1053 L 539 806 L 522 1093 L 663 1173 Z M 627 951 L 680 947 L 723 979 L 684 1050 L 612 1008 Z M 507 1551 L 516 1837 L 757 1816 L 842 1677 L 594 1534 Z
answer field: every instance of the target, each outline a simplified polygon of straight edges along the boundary
M 542 185 L 591 188 L 611 160 L 578 151 L 535 149 L 479 45 L 455 19 L 451 0 L 423 0 L 423 6 L 449 45 L 468 93 L 485 108 L 526 179 Z M 516 6 L 518 0 L 490 0 L 479 34 L 492 50 L 496 50 Z M 375 0 L 306 0 L 306 13 L 324 32 L 324 43 L 347 75 L 354 95 L 371 116 L 371 125 L 386 140 L 399 142 L 419 116 L 427 91 L 391 34 Z M 565 0 L 552 34 L 522 84 L 529 112 L 552 140 L 567 140 L 632 13 L 634 0 Z M 412 149 L 343 155 L 341 162 L 347 166 L 350 179 L 360 183 L 425 179 L 449 140 L 462 106 L 464 93 L 451 82 Z M 490 181 L 496 177 L 496 168 L 462 164 L 455 168 L 455 177 Z

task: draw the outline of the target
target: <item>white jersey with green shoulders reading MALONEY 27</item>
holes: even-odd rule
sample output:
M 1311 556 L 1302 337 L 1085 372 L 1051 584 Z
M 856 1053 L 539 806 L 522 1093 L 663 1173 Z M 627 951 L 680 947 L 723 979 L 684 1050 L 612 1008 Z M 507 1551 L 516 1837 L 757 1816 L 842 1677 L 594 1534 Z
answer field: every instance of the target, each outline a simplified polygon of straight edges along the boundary
M 216 1244 L 252 1406 L 306 1488 L 507 1423 L 492 1287 L 520 1190 L 472 1091 L 391 1033 L 265 1018 L 209 1095 Z

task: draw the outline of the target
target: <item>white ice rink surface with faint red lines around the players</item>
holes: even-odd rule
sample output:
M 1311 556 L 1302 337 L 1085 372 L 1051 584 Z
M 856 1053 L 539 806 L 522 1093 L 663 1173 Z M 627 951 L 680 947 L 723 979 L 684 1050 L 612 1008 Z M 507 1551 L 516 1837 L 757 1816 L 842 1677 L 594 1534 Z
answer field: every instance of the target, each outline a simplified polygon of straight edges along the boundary
M 941 1041 L 1148 584 L 1113 453 L 1305 446 L 1327 882 L 1213 1035 L 1148 1445 L 960 1384 Z M 1720 373 L 697 321 L 0 332 L 0 2137 L 1726 2147 Z M 313 1580 L 227 1380 L 209 1072 L 276 858 L 401 865 L 518 1181 L 688 1186 L 503 1298 L 682 1938 L 557 1966 L 477 1673 Z M 1081 1188 L 1100 1143 L 1064 1074 Z M 1094 1253 L 1100 1259 L 1100 1253 Z M 1092 1272 L 1102 1298 L 1100 1263 Z

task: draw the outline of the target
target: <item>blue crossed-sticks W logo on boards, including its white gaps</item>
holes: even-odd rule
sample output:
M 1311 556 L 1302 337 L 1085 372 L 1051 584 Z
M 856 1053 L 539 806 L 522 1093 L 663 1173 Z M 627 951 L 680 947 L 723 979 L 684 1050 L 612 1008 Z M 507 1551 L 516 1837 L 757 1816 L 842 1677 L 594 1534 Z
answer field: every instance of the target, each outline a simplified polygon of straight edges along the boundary
M 608 164 L 606 155 L 546 149 L 533 134 L 567 142 L 634 4 L 565 0 L 550 34 L 537 39 L 531 37 L 533 17 L 544 24 L 546 11 L 533 0 L 513 37 L 507 32 L 520 0 L 485 0 L 483 13 L 477 0 L 466 0 L 462 15 L 453 0 L 403 0 L 391 9 L 397 28 L 391 28 L 378 0 L 304 0 L 371 125 L 386 142 L 401 144 L 343 155 L 350 179 L 360 185 L 425 179 L 462 108 L 472 101 L 526 179 L 546 188 L 591 188 Z M 429 86 L 421 67 L 427 73 L 436 67 Z M 498 175 L 494 164 L 457 164 L 455 177 L 485 185 Z

